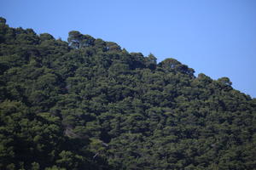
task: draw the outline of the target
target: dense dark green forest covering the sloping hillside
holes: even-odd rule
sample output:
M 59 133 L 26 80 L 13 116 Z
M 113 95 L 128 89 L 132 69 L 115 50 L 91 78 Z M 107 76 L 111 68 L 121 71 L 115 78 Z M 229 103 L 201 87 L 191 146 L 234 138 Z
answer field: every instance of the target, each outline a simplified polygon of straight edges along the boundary
M 0 169 L 256 169 L 256 99 L 194 72 L 0 18 Z

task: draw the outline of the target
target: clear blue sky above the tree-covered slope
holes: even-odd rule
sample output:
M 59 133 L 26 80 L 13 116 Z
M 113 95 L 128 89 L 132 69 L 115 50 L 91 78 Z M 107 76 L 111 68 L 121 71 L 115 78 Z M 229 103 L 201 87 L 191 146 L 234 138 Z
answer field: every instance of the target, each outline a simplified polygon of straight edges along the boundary
M 1 0 L 0 16 L 62 40 L 76 30 L 172 57 L 256 97 L 256 0 Z

